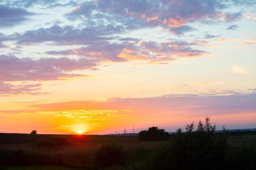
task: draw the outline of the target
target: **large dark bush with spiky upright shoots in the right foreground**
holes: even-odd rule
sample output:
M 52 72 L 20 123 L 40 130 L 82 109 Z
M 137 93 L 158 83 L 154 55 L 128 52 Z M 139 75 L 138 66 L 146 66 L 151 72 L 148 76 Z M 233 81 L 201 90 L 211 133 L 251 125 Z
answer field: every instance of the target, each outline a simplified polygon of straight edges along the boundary
M 172 140 L 159 148 L 153 169 L 224 169 L 227 135 L 214 136 L 216 125 L 210 123 L 209 117 L 205 124 L 199 121 L 195 131 L 193 122 L 185 128 L 186 132 L 179 128 Z

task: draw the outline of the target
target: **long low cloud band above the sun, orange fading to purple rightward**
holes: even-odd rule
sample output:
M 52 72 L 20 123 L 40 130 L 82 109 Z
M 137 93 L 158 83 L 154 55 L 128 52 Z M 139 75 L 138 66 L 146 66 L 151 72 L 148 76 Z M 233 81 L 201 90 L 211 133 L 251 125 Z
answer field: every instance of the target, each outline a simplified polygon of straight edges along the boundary
M 27 110 L 0 110 L 0 113 L 52 113 L 67 118 L 98 120 L 107 117 L 164 118 L 166 120 L 163 123 L 167 123 L 174 117 L 205 117 L 206 115 L 218 117 L 255 113 L 255 91 L 250 91 L 251 93 L 212 91 L 215 91 L 212 95 L 164 95 L 147 98 L 112 98 L 103 102 L 32 104 L 27 106 L 29 108 Z

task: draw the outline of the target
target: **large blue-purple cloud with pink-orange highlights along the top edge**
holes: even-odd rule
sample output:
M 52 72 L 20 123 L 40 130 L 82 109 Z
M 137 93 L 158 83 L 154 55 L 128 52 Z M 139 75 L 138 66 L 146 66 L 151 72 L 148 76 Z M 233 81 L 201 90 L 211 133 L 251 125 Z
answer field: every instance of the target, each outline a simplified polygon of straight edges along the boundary
M 86 1 L 65 16 L 69 20 L 83 20 L 84 26 L 122 27 L 122 31 L 162 26 L 171 33 L 181 35 L 194 31 L 187 24 L 193 22 L 229 22 L 242 16 L 241 13 L 225 13 L 227 4 L 218 1 Z M 186 11 L 186 12 L 184 12 Z

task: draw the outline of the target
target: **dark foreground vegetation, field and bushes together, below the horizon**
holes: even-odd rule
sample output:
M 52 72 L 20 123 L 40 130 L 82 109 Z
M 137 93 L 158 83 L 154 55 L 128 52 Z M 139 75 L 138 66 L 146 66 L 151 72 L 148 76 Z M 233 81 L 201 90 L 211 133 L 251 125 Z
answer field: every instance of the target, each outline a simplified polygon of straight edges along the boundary
M 0 134 L 0 169 L 9 166 L 83 170 L 256 169 L 256 132 L 239 135 L 229 134 L 225 127 L 220 133 L 214 133 L 215 130 L 216 125 L 207 117 L 196 128 L 193 122 L 184 132 L 179 128 L 166 141 L 110 135 Z

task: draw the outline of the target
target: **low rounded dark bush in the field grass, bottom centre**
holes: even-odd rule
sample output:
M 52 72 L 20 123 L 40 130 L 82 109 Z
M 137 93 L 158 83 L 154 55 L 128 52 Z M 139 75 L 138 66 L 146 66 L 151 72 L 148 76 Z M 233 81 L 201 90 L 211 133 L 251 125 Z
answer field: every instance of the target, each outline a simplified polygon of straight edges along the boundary
M 126 161 L 126 151 L 121 145 L 106 143 L 96 151 L 95 163 L 99 166 L 123 166 Z

